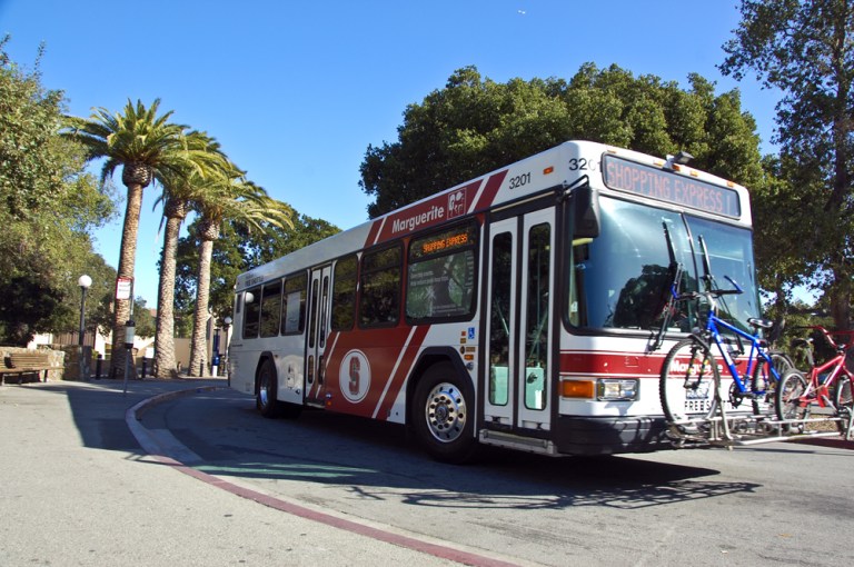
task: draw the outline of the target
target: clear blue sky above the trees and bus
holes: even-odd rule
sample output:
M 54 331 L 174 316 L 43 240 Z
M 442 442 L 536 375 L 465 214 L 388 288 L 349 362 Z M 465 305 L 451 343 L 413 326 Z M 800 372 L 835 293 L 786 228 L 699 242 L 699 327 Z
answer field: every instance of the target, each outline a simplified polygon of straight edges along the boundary
M 249 178 L 299 212 L 340 228 L 367 219 L 358 186 L 368 145 L 397 138 L 406 106 L 474 64 L 498 82 L 569 79 L 588 61 L 717 92 L 738 88 L 773 150 L 778 96 L 716 69 L 738 26 L 737 0 L 0 0 L 0 36 L 70 113 L 127 100 L 206 130 Z M 120 178 L 116 182 L 121 186 Z M 145 193 L 137 296 L 157 301 L 162 243 L 156 190 Z M 123 209 L 122 209 L 123 210 Z M 118 265 L 121 219 L 95 233 Z

